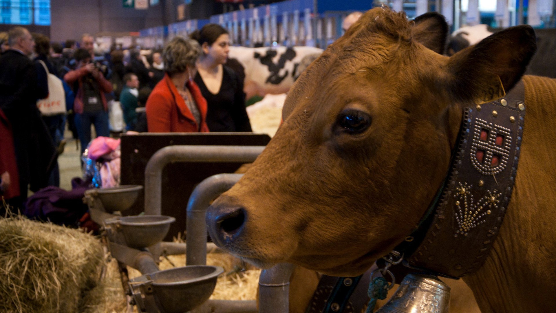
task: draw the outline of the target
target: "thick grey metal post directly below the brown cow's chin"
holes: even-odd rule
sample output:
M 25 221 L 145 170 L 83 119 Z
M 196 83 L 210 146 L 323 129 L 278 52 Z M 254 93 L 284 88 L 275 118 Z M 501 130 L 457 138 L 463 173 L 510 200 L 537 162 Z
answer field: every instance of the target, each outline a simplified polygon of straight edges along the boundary
M 259 278 L 259 313 L 287 313 L 290 300 L 290 278 L 295 265 L 279 263 L 263 270 Z

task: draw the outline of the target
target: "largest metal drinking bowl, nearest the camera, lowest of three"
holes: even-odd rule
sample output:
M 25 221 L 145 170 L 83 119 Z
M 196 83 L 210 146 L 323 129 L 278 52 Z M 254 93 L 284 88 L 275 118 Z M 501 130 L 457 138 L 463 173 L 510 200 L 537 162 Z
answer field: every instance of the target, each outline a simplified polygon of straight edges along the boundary
M 222 272 L 219 266 L 190 265 L 146 274 L 129 284 L 141 310 L 150 312 L 156 305 L 161 313 L 183 313 L 209 300 Z

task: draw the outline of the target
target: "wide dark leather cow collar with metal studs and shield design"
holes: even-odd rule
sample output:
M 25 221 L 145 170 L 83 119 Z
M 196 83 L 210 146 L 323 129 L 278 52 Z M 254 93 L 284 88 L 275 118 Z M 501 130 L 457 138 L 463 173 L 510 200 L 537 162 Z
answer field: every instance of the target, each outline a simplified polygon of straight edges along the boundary
M 404 265 L 454 278 L 483 265 L 512 196 L 524 117 L 521 81 L 506 97 L 464 109 L 434 211 L 395 249 Z

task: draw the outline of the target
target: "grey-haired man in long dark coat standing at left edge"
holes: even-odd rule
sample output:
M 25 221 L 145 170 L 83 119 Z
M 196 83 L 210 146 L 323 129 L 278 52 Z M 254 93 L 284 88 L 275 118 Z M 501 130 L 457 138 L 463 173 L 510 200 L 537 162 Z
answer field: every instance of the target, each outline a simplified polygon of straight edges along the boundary
M 8 37 L 10 49 L 0 56 L 0 108 L 13 129 L 23 203 L 29 183 L 32 190 L 46 186 L 54 144 L 37 108 L 37 100 L 48 94 L 37 87 L 36 67 L 28 57 L 33 52 L 33 37 L 23 27 L 13 27 Z

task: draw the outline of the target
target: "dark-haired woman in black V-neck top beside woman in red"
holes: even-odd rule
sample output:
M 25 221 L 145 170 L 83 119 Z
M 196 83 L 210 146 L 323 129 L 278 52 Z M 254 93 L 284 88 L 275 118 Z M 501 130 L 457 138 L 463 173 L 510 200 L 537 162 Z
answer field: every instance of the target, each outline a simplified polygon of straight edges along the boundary
M 211 132 L 250 132 L 245 111 L 244 84 L 231 68 L 224 66 L 230 52 L 230 36 L 217 24 L 207 24 L 191 34 L 203 55 L 197 64 L 195 82 L 207 101 L 206 123 Z

